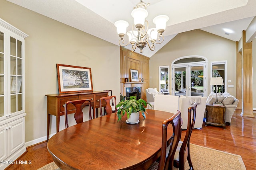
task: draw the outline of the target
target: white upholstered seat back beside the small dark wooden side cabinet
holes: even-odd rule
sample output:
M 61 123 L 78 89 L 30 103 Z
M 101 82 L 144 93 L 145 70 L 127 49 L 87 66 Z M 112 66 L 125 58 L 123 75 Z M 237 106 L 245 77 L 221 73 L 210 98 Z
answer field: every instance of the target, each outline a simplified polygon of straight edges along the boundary
M 195 128 L 202 128 L 204 121 L 204 112 L 206 108 L 206 97 L 201 96 L 180 96 L 179 110 L 181 111 L 181 118 L 183 120 L 182 129 L 187 129 L 188 125 L 188 107 L 192 106 L 193 102 L 197 103 L 196 107 L 196 121 Z

